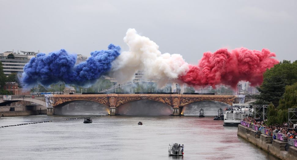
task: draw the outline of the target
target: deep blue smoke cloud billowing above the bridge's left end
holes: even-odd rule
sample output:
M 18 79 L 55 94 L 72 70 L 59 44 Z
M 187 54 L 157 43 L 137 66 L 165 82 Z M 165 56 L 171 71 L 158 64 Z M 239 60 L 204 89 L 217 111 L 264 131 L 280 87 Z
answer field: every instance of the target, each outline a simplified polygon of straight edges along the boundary
M 64 49 L 48 55 L 39 53 L 25 65 L 20 82 L 27 87 L 35 84 L 49 86 L 59 81 L 80 86 L 91 84 L 110 70 L 111 62 L 120 51 L 120 46 L 110 44 L 108 50 L 91 52 L 91 57 L 78 65 L 75 65 L 76 55 L 70 55 Z

